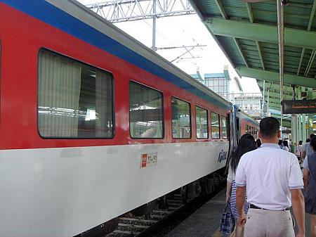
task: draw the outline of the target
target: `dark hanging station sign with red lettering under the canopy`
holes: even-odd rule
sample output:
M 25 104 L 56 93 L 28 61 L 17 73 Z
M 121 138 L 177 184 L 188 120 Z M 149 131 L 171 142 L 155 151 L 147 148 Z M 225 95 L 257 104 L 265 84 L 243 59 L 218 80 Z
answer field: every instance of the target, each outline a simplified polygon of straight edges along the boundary
M 316 100 L 282 101 L 284 114 L 316 113 Z

